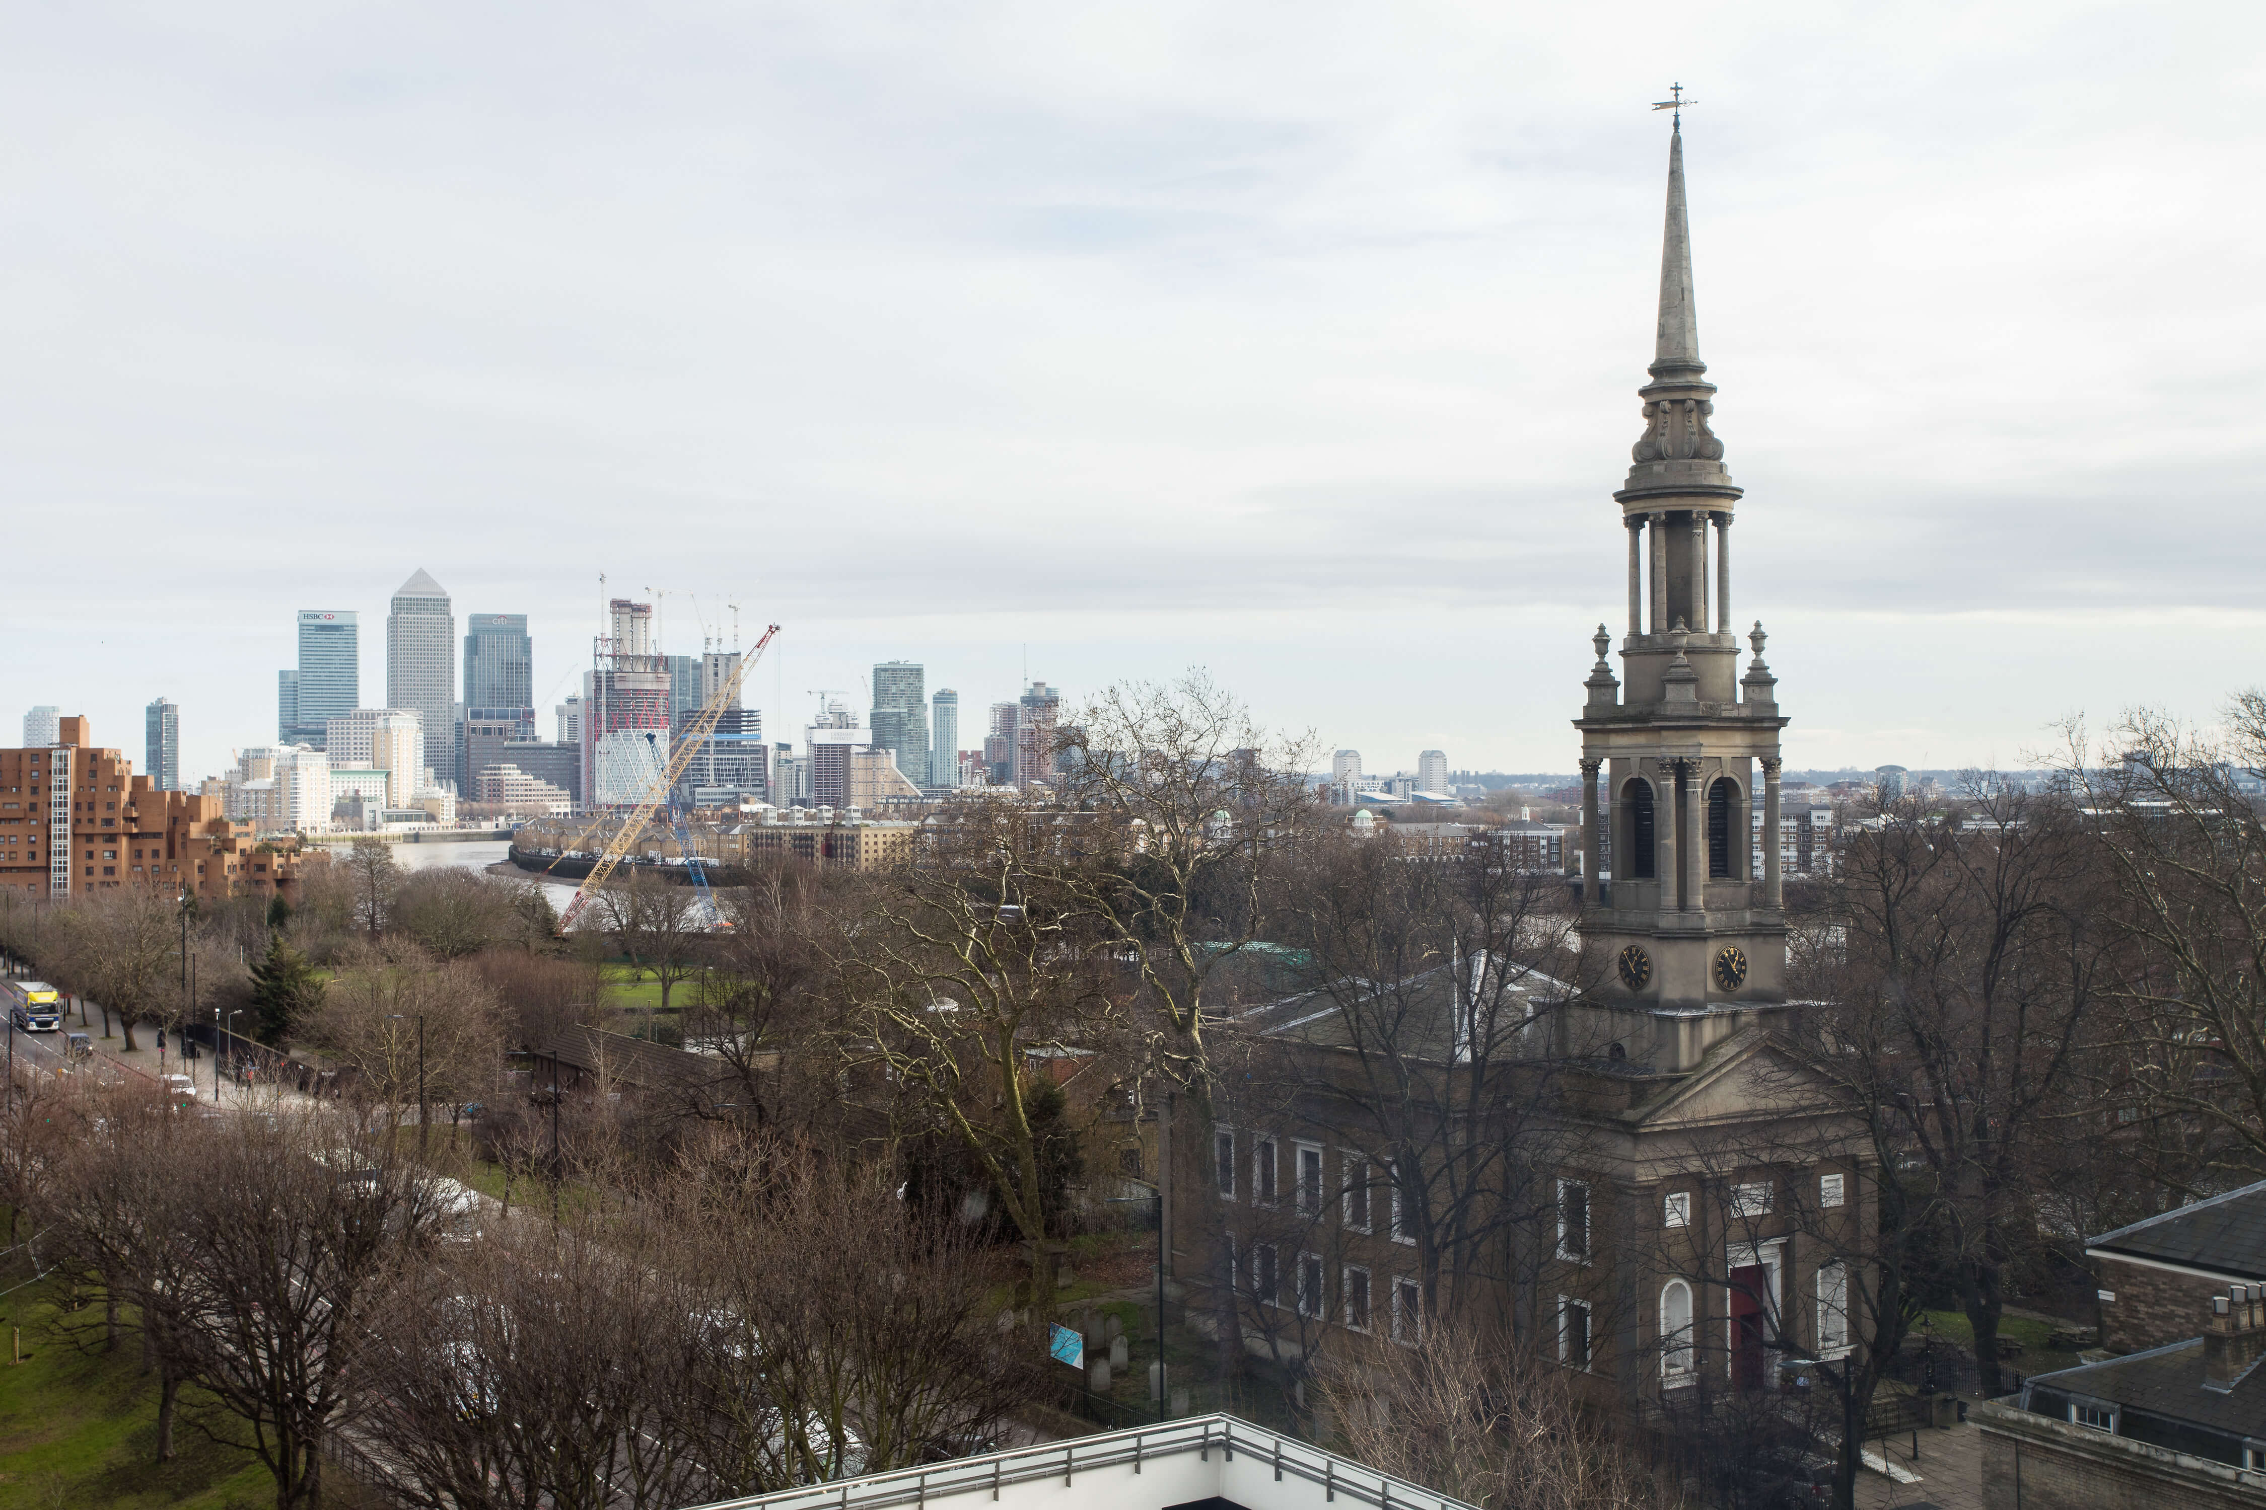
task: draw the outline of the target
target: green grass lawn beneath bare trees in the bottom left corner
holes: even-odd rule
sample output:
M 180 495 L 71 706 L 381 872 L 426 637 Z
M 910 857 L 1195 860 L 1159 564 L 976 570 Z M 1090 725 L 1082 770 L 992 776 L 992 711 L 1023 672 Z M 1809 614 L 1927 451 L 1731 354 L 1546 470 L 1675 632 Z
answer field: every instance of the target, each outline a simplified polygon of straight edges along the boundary
M 188 1417 L 199 1406 L 181 1392 L 172 1462 L 156 1460 L 156 1374 L 140 1372 L 140 1342 L 125 1331 L 118 1352 L 79 1352 L 57 1329 L 50 1286 L 9 1295 L 5 1324 L 23 1324 L 20 1365 L 0 1363 L 0 1510 L 254 1510 L 274 1503 L 274 1478 L 258 1458 L 220 1447 Z M 102 1313 L 86 1309 L 75 1329 L 100 1342 Z M 204 1401 L 202 1408 L 211 1408 Z

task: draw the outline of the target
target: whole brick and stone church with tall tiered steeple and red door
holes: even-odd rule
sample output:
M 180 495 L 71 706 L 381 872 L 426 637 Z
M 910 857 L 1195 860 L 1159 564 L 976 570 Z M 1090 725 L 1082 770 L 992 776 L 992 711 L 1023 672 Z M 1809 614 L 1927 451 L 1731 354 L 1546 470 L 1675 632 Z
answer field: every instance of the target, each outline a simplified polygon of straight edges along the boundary
M 1575 720 L 1577 912 L 1536 885 L 1568 942 L 1539 967 L 1518 917 L 1421 976 L 1240 1012 L 1235 1082 L 1172 1134 L 1174 1279 L 1215 1324 L 1230 1286 L 1251 1352 L 1296 1367 L 1341 1333 L 1457 1324 L 1650 1417 L 1808 1385 L 1863 1333 L 1869 1146 L 1795 1048 L 1779 853 L 1756 876 L 1747 844 L 1756 804 L 1777 833 L 1788 720 L 1761 625 L 1733 632 L 1743 494 L 1700 360 L 1681 120 L 1647 374 L 1613 494 L 1620 668 L 1600 625 Z

